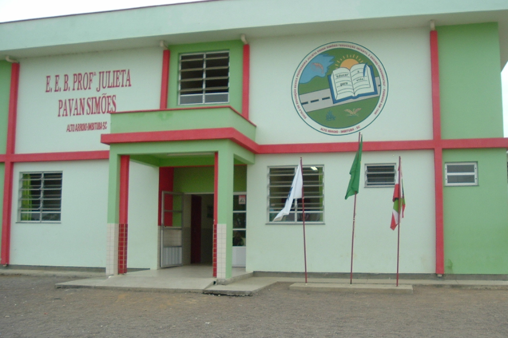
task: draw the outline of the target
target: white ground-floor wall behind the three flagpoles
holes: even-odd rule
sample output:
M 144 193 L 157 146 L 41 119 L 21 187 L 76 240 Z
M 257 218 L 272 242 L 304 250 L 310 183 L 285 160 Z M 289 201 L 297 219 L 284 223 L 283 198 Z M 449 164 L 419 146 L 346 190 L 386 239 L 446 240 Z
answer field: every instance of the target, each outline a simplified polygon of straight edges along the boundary
M 390 229 L 393 187 L 365 188 L 364 165 L 402 156 L 406 213 L 400 273 L 435 271 L 434 167 L 431 151 L 364 152 L 357 197 L 354 272 L 395 273 L 397 231 Z M 304 165 L 324 165 L 325 222 L 306 225 L 309 272 L 349 272 L 354 197 L 344 200 L 353 153 L 303 154 Z M 247 168 L 247 271 L 302 272 L 302 225 L 267 224 L 268 167 L 297 165 L 300 155 L 257 155 Z

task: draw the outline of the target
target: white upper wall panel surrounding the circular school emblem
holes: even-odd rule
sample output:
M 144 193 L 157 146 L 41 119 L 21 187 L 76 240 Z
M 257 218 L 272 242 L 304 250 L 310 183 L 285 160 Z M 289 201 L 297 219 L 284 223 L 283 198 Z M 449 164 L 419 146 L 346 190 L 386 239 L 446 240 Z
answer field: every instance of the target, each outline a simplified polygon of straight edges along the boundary
M 358 135 L 327 135 L 308 126 L 293 105 L 291 85 L 300 62 L 315 48 L 335 41 L 364 46 L 383 63 L 389 83 L 380 115 L 365 129 L 364 141 L 432 139 L 428 28 L 352 31 L 251 39 L 250 110 L 256 142 L 352 142 Z

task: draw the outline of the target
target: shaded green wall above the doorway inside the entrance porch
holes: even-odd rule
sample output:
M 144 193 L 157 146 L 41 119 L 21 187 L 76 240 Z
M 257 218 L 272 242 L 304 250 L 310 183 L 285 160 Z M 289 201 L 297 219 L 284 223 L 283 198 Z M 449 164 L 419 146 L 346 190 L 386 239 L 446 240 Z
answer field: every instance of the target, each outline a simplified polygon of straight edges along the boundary
M 235 165 L 233 190 L 247 191 L 247 166 Z M 213 193 L 213 166 L 176 167 L 174 191 Z

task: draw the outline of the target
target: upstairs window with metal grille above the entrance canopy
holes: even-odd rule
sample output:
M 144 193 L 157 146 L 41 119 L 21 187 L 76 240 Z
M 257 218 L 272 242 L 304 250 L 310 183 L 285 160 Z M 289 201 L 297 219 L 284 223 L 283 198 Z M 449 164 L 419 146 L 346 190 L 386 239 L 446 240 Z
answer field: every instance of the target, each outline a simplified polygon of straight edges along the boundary
M 180 105 L 229 102 L 229 52 L 180 55 Z

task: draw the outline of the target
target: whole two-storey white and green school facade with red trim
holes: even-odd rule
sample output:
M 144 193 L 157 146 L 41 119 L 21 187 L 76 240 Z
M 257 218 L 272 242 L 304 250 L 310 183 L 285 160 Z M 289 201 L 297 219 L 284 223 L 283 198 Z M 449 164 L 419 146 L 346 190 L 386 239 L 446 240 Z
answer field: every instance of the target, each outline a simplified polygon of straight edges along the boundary
M 308 271 L 348 272 L 361 132 L 355 272 L 395 273 L 400 156 L 400 272 L 507 274 L 508 5 L 392 5 L 0 23 L 1 263 L 302 272 L 304 218 Z M 300 158 L 305 216 L 273 221 Z

